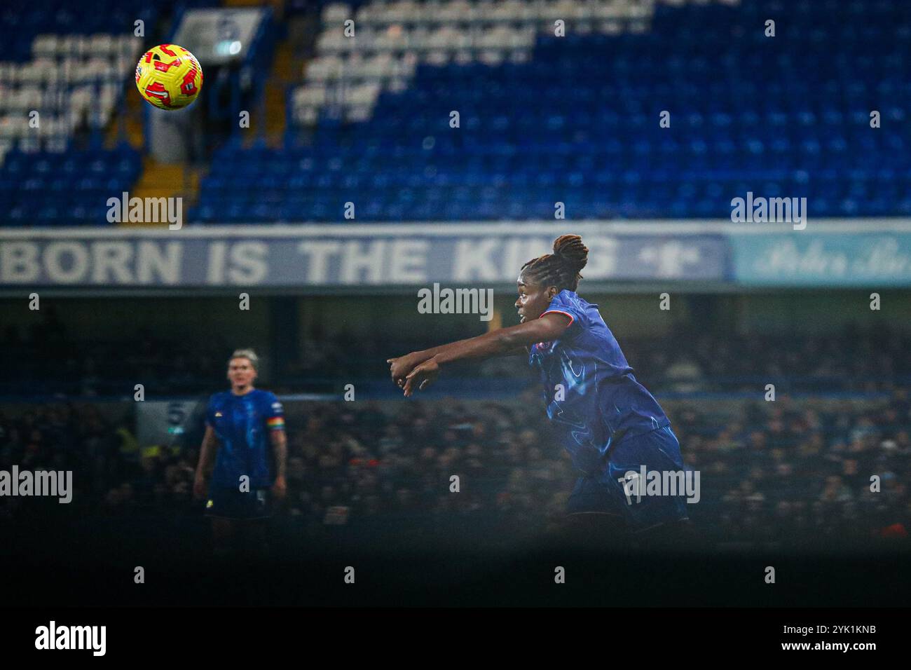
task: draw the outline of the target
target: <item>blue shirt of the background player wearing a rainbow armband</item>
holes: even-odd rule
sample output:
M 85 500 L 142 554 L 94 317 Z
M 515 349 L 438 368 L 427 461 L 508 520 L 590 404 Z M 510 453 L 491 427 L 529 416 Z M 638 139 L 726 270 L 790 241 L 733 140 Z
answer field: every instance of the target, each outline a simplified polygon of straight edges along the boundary
M 216 393 L 209 400 L 206 425 L 215 430 L 221 442 L 212 471 L 213 488 L 238 488 L 241 475 L 250 477 L 251 489 L 272 485 L 269 433 L 284 428 L 281 403 L 275 394 L 259 389 L 243 396 L 230 391 Z

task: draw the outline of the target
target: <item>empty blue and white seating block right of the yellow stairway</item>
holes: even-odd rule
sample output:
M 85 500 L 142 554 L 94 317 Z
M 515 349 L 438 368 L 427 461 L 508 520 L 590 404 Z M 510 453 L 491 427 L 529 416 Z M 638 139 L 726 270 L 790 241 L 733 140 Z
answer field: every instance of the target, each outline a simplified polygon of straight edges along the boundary
M 322 30 L 286 148 L 224 147 L 196 220 L 726 219 L 747 191 L 911 213 L 900 3 L 363 3 Z

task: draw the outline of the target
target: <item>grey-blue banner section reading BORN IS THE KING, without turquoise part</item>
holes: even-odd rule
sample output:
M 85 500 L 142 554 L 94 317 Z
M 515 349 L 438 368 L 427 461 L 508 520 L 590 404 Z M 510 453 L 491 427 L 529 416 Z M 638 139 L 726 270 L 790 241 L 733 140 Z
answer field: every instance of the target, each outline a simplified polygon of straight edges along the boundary
M 589 228 L 591 226 L 578 226 Z M 556 226 L 206 227 L 0 233 L 0 285 L 394 286 L 515 283 Z M 723 280 L 721 235 L 583 232 L 591 280 Z

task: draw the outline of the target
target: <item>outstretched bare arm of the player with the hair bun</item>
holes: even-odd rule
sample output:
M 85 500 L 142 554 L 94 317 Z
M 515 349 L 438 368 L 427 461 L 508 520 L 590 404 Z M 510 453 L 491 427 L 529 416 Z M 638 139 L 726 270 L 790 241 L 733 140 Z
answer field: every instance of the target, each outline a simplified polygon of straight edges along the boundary
M 405 396 L 411 396 L 415 390 L 423 390 L 433 384 L 436 377 L 439 376 L 440 368 L 443 366 L 455 363 L 455 361 L 510 356 L 519 347 L 558 339 L 560 335 L 563 335 L 570 323 L 568 317 L 563 314 L 544 314 L 541 318 L 524 324 L 511 325 L 508 328 L 500 328 L 477 337 L 437 346 L 429 350 L 435 352 L 433 356 L 412 366 L 410 371 L 404 369 L 405 365 L 399 368 L 393 366 L 393 380 L 400 387 L 403 387 Z M 398 361 L 400 359 L 393 360 Z M 400 382 L 401 375 L 404 375 L 404 383 Z

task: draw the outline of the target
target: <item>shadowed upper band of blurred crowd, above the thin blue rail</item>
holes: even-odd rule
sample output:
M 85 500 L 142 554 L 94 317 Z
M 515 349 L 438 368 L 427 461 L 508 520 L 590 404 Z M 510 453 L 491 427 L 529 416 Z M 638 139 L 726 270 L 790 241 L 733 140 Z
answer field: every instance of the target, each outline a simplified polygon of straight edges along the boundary
M 142 383 L 149 394 L 209 393 L 224 379 L 235 346 L 224 335 L 169 340 L 146 329 L 128 341 L 74 339 L 50 305 L 42 321 L 0 332 L 0 397 L 123 396 Z M 405 334 L 407 335 L 407 334 Z M 375 339 L 352 335 L 302 337 L 283 352 L 280 370 L 266 371 L 276 391 L 322 392 L 340 379 L 384 379 L 386 358 L 439 344 L 405 341 L 404 335 Z M 853 326 L 826 335 L 689 332 L 672 337 L 620 338 L 636 376 L 653 392 L 741 391 L 774 383 L 791 392 L 879 391 L 911 385 L 911 332 L 885 325 Z M 271 374 L 270 374 L 271 373 Z M 475 382 L 529 378 L 523 360 L 507 357 L 464 366 L 454 375 Z M 389 387 L 390 393 L 394 387 Z

